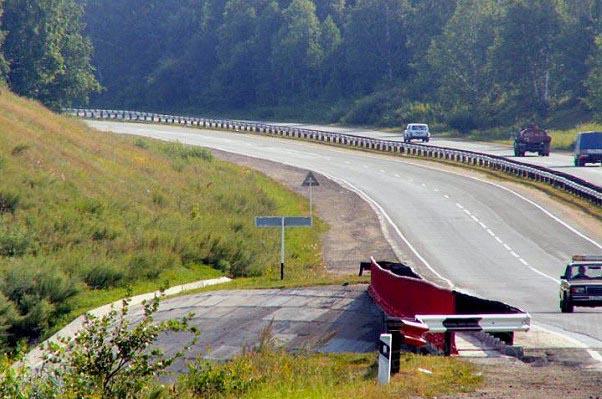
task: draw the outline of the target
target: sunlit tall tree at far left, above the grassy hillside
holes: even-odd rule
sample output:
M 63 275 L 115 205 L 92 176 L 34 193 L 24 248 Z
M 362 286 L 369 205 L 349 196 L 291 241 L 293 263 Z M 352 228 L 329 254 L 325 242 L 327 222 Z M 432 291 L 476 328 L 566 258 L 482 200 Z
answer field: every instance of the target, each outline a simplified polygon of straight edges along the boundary
M 7 0 L 2 26 L 8 84 L 53 108 L 85 102 L 99 90 L 82 35 L 83 9 L 73 0 Z

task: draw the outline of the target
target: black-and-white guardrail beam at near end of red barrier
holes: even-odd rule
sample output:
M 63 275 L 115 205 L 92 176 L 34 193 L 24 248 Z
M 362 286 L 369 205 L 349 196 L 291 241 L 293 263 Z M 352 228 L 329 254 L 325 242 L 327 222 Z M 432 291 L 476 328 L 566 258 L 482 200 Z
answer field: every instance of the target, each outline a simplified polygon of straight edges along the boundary
M 531 316 L 528 313 L 471 314 L 471 315 L 416 315 L 416 320 L 426 324 L 429 332 L 483 331 L 500 333 L 528 331 Z

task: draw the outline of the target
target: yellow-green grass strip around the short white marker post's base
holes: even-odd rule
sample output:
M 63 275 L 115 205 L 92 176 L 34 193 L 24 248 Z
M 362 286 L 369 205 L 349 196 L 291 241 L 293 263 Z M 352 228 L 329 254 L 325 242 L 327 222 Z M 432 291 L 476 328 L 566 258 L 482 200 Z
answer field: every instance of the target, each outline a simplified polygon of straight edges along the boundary
M 427 398 L 471 392 L 482 380 L 474 365 L 458 359 L 403 354 L 399 374 L 380 386 L 375 361 L 374 353 L 260 350 L 224 364 L 197 363 L 180 380 L 173 397 Z

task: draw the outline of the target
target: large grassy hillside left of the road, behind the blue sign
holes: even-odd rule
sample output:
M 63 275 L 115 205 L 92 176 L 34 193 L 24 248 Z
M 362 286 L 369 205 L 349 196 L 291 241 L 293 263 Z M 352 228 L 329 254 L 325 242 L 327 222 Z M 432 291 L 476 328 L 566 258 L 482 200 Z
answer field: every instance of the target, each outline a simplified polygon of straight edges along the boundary
M 279 235 L 255 228 L 254 217 L 308 213 L 303 197 L 209 150 L 96 132 L 6 90 L 0 174 L 8 345 L 45 336 L 126 287 L 138 294 L 218 275 L 269 280 Z M 316 220 L 287 232 L 291 277 L 323 278 L 326 229 Z

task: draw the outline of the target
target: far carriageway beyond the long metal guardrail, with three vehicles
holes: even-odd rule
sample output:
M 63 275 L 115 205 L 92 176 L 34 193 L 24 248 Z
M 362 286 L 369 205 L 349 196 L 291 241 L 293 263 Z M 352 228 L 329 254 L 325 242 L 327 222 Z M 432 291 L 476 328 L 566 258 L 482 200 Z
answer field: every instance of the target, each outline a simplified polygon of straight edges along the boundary
M 298 124 L 298 123 L 272 123 L 273 125 L 280 126 L 294 126 L 304 127 L 307 129 L 318 129 L 329 132 L 344 133 L 355 136 L 371 137 L 384 140 L 403 141 L 403 130 L 400 128 L 399 133 L 392 132 L 381 132 L 372 129 L 362 128 L 349 128 L 349 127 L 337 127 L 337 126 L 324 126 L 324 125 L 311 125 L 311 124 Z M 544 166 L 546 168 L 557 170 L 559 172 L 568 173 L 570 175 L 579 177 L 583 180 L 594 183 L 598 186 L 602 186 L 602 167 L 598 165 L 588 165 L 586 167 L 576 168 L 574 166 L 573 154 L 569 152 L 555 152 L 549 157 L 540 157 L 535 153 L 528 153 L 525 157 L 514 157 L 514 151 L 511 146 L 497 144 L 497 143 L 486 143 L 486 142 L 475 142 L 468 140 L 452 140 L 443 139 L 438 137 L 431 137 L 429 143 L 422 143 L 415 141 L 420 144 L 431 144 L 440 147 L 456 148 L 459 150 L 475 151 L 485 154 L 497 155 L 512 158 L 514 160 L 525 162 L 533 165 Z

